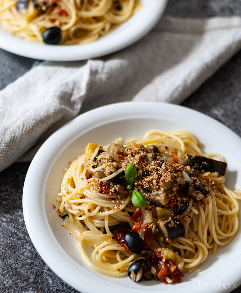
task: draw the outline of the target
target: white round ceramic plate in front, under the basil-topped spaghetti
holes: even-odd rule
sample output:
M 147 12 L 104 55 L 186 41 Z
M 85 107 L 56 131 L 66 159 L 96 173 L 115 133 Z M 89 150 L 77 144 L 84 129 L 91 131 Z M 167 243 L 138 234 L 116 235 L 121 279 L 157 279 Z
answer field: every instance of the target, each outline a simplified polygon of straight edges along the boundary
M 77 241 L 61 226 L 56 197 L 68 162 L 83 154 L 88 142 L 105 145 L 117 137 L 125 140 L 141 138 L 150 129 L 191 131 L 202 142 L 205 152 L 218 152 L 225 157 L 228 162 L 227 187 L 240 188 L 241 139 L 221 123 L 172 104 L 127 102 L 107 105 L 67 123 L 49 137 L 35 155 L 23 189 L 23 213 L 30 238 L 47 265 L 82 293 L 187 293 L 202 292 L 204 286 L 207 289 L 211 286 L 214 292 L 229 292 L 234 288 L 233 283 L 236 283 L 235 287 L 241 284 L 240 229 L 230 244 L 218 248 L 217 255 L 208 256 L 195 272 L 186 273 L 181 284 L 165 285 L 154 280 L 136 283 L 129 277 L 107 277 L 91 270 L 80 257 Z

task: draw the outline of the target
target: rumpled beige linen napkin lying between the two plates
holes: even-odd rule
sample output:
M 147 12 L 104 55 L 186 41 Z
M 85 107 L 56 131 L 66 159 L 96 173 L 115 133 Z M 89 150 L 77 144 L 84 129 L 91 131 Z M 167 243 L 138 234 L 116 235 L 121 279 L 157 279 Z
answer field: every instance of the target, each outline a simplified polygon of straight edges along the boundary
M 181 103 L 241 48 L 241 18 L 164 17 L 134 45 L 78 62 L 42 62 L 0 91 L 0 171 L 30 161 L 75 116 L 120 101 Z

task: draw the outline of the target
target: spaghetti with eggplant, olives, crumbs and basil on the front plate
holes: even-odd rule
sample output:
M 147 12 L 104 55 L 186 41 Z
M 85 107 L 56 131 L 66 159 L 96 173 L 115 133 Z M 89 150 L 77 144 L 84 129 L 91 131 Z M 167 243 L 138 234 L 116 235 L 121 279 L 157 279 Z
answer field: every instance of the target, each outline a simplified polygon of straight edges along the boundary
M 181 282 L 230 243 L 240 191 L 225 187 L 223 158 L 199 145 L 186 130 L 153 130 L 135 142 L 89 143 L 71 163 L 58 212 L 91 268 Z

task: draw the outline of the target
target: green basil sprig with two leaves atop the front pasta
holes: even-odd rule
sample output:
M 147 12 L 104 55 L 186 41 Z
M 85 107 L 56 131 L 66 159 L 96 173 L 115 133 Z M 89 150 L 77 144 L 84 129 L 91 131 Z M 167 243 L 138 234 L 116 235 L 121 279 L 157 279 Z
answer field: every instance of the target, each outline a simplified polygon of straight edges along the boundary
M 136 168 L 129 163 L 126 168 L 125 177 L 128 183 L 130 185 L 127 185 L 127 189 L 132 190 L 132 197 L 131 199 L 134 201 L 136 205 L 141 207 L 142 209 L 146 208 L 146 199 L 142 193 L 137 191 L 136 189 L 133 189 L 133 183 L 136 181 L 137 178 L 137 171 Z

